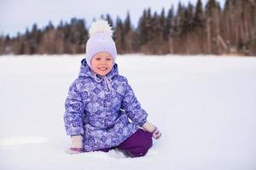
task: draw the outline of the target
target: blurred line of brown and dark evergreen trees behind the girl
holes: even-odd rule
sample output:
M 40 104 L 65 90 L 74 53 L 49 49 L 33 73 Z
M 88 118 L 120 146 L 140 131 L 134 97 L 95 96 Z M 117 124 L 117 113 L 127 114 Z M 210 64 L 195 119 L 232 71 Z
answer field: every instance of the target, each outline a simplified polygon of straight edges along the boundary
M 244 54 L 256 55 L 256 0 L 201 0 L 195 6 L 179 3 L 158 14 L 144 9 L 137 27 L 102 15 L 113 26 L 119 54 Z M 0 54 L 84 54 L 89 38 L 85 20 L 40 29 L 36 24 L 16 37 L 0 36 Z

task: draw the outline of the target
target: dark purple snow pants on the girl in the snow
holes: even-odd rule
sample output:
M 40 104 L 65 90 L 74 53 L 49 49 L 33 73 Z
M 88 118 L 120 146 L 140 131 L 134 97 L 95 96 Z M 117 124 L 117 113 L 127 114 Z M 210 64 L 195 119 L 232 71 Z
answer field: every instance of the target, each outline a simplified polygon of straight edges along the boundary
M 116 148 L 122 150 L 125 155 L 131 157 L 145 156 L 149 148 L 152 146 L 152 133 L 148 133 L 143 129 L 138 129 L 128 139 L 119 144 Z M 99 151 L 108 152 L 110 149 L 102 149 Z

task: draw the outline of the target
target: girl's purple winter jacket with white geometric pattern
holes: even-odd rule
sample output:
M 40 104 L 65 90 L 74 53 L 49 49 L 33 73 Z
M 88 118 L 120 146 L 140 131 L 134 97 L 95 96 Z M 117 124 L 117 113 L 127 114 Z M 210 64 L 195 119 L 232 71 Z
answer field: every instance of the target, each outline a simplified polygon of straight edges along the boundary
M 110 84 L 110 86 L 109 86 Z M 119 145 L 143 126 L 148 114 L 141 108 L 118 65 L 106 77 L 98 77 L 82 60 L 69 88 L 64 122 L 67 135 L 82 135 L 84 151 Z

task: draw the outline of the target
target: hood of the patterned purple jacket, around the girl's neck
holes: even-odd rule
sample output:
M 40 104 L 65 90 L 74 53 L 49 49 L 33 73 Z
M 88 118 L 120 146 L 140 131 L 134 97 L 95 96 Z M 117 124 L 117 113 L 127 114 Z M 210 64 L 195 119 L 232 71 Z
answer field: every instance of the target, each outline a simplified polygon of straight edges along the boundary
M 113 68 L 105 77 L 108 77 L 108 79 L 112 79 L 114 76 L 118 75 L 118 65 L 115 63 L 113 65 Z M 79 71 L 79 77 L 91 77 L 93 79 L 97 79 L 96 82 L 99 82 L 99 79 L 102 80 L 102 77 L 99 75 L 96 75 L 91 69 L 90 66 L 87 64 L 86 59 L 83 59 L 81 61 L 81 67 Z

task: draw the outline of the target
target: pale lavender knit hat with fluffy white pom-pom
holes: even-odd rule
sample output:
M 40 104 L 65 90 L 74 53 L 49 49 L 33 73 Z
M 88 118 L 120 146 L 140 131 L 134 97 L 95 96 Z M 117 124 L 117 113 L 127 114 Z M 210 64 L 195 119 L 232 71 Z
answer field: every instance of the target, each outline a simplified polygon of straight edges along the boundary
M 86 54 L 85 59 L 87 65 L 90 66 L 90 60 L 95 54 L 100 52 L 106 52 L 112 55 L 113 64 L 116 60 L 117 50 L 115 47 L 115 42 L 113 42 L 113 30 L 112 27 L 108 25 L 107 20 L 97 20 L 90 26 L 90 38 L 86 42 Z

